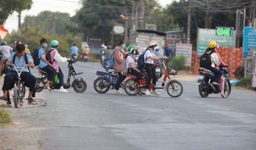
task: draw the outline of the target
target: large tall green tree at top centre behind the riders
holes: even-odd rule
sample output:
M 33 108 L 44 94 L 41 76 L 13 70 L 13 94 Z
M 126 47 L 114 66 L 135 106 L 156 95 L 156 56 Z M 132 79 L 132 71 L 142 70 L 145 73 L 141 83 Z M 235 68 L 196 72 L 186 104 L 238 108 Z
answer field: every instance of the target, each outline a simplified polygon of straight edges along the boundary
M 83 7 L 77 12 L 74 19 L 77 21 L 79 31 L 84 35 L 103 38 L 110 41 L 110 32 L 113 23 L 124 24 L 120 17 L 126 9 L 129 18 L 132 14 L 132 6 L 139 5 L 139 0 L 84 0 Z M 154 9 L 155 0 L 144 0 L 146 14 Z M 131 21 L 131 20 L 129 20 Z

